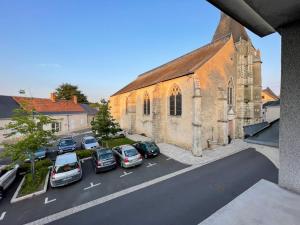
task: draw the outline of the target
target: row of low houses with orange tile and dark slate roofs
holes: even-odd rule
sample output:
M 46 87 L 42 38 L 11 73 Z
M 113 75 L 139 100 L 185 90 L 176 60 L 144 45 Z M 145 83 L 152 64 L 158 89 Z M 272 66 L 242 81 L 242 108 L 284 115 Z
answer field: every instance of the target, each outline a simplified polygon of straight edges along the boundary
M 95 115 L 88 105 L 79 104 L 76 96 L 72 100 L 58 100 L 54 93 L 49 99 L 0 95 L 0 127 L 5 127 L 11 121 L 13 111 L 21 107 L 53 118 L 55 121 L 47 129 L 52 129 L 57 135 L 89 128 Z M 8 131 L 0 130 L 0 143 L 5 140 L 5 133 Z

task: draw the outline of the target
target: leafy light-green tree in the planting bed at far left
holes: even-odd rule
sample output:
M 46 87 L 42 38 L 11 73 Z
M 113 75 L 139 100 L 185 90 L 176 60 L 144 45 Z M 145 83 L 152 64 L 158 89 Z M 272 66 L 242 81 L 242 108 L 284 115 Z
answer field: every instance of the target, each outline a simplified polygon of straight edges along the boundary
M 49 140 L 55 138 L 54 131 L 44 129 L 53 121 L 48 116 L 35 115 L 33 110 L 15 110 L 12 121 L 5 128 L 10 130 L 7 137 L 20 135 L 20 140 L 15 144 L 5 144 L 1 157 L 9 156 L 13 162 L 23 162 L 26 158 L 30 158 L 31 174 L 34 179 L 34 153 L 41 147 L 49 146 Z

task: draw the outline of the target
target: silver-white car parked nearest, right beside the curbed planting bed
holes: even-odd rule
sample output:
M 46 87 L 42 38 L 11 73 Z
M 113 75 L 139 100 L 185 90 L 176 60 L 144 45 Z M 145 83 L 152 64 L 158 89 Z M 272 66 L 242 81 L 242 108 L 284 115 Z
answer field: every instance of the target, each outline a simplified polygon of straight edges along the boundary
M 76 153 L 66 153 L 56 157 L 51 170 L 51 187 L 64 186 L 82 178 L 81 163 Z

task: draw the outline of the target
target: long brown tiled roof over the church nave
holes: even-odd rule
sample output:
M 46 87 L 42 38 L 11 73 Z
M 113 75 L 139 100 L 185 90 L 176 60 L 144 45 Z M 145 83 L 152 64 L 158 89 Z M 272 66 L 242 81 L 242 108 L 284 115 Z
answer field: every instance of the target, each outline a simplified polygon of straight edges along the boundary
M 228 40 L 229 36 L 207 44 L 162 66 L 143 73 L 139 75 L 136 80 L 116 92 L 113 96 L 192 74 L 212 58 Z

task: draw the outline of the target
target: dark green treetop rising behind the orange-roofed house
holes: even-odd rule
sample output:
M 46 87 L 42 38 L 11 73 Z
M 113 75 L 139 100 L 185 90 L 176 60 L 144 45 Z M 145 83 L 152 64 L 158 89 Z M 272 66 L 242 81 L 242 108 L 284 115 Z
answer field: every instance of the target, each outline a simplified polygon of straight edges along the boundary
M 78 89 L 78 86 L 69 83 L 63 83 L 56 88 L 57 99 L 71 100 L 77 96 L 78 103 L 88 104 L 87 97 Z

